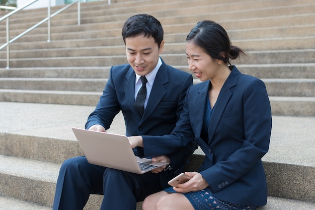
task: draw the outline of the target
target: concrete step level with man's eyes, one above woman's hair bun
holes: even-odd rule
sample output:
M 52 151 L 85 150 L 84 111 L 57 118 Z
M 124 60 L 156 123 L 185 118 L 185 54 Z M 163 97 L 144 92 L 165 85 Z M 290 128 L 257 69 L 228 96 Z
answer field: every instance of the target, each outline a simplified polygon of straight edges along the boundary
M 47 38 L 47 37 L 46 37 Z M 99 42 L 102 40 L 94 40 Z M 118 42 L 122 40 L 117 39 Z M 85 41 L 87 42 L 87 41 Z M 264 45 L 261 43 L 265 42 Z M 17 44 L 17 43 L 16 43 Z M 315 36 L 312 37 L 291 37 L 291 38 L 270 38 L 270 39 L 250 39 L 250 40 L 234 40 L 234 45 L 240 46 L 245 50 L 307 50 L 315 48 Z M 45 58 L 45 57 L 75 57 L 75 56 L 110 56 L 110 55 L 124 55 L 126 53 L 125 45 L 102 46 L 97 43 L 84 47 L 53 47 L 53 43 L 49 48 L 41 49 L 19 49 L 11 50 L 11 58 Z M 17 46 L 17 45 L 16 45 Z M 285 48 L 283 47 L 285 46 Z M 17 46 L 18 47 L 18 46 Z M 32 47 L 32 45 L 28 45 Z M 182 53 L 185 52 L 185 42 L 180 43 L 166 43 L 164 48 L 165 54 Z M 0 58 L 7 58 L 6 51 L 0 51 Z

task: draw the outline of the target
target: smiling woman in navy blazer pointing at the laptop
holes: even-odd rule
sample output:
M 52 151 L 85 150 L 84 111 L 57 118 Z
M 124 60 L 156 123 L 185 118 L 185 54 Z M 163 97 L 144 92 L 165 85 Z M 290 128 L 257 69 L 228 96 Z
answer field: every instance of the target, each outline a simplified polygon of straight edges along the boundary
M 144 156 L 156 148 L 174 151 L 196 141 L 205 153 L 191 179 L 148 196 L 144 210 L 255 209 L 267 202 L 261 158 L 268 152 L 271 108 L 264 83 L 230 65 L 244 52 L 231 46 L 225 30 L 212 21 L 199 22 L 188 34 L 189 69 L 202 83 L 186 95 L 184 111 L 170 135 L 133 136 L 132 147 Z

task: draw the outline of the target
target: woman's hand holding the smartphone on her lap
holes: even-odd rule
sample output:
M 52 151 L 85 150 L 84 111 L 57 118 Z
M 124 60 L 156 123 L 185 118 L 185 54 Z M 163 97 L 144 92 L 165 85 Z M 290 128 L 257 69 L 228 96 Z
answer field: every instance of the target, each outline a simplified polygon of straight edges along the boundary
M 203 190 L 209 186 L 207 181 L 198 172 L 185 172 L 187 176 L 192 177 L 190 180 L 183 184 L 178 184 L 177 187 L 173 187 L 176 192 L 196 192 Z

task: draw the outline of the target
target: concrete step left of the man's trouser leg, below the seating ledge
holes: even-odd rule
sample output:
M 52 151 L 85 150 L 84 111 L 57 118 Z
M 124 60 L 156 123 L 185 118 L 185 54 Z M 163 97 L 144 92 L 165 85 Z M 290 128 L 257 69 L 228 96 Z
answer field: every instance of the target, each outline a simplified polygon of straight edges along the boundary
M 1 194 L 49 206 L 60 164 L 0 155 Z

